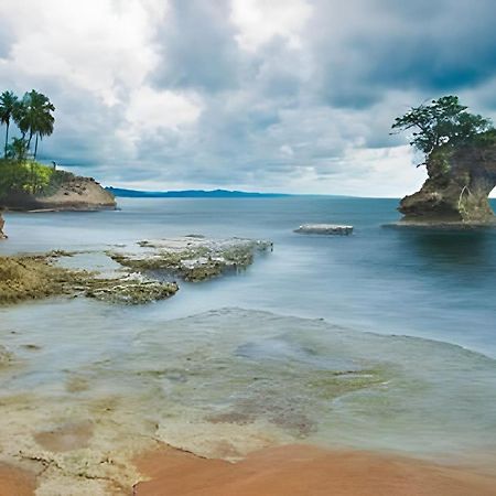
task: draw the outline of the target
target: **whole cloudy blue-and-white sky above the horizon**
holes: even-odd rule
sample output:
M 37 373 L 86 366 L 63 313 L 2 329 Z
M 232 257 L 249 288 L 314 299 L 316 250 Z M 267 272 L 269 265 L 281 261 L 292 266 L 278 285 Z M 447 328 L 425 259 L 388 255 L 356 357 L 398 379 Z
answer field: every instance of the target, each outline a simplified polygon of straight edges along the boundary
M 40 157 L 106 185 L 402 196 L 410 107 L 496 121 L 494 0 L 0 0 L 0 91 L 55 105 Z

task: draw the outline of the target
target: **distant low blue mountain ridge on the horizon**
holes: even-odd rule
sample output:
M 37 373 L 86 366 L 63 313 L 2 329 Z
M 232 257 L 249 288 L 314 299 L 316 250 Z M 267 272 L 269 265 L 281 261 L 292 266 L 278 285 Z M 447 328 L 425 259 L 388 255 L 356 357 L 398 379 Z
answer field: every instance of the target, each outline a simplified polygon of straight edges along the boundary
M 254 193 L 228 190 L 139 191 L 112 186 L 106 190 L 115 196 L 127 198 L 273 198 L 291 196 L 285 193 Z

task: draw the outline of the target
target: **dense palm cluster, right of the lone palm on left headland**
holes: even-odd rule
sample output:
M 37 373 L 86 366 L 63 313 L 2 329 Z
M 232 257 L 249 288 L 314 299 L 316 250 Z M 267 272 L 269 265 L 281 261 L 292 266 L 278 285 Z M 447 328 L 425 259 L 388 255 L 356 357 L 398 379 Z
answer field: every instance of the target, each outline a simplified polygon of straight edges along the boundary
M 55 121 L 52 112 L 55 107 L 50 99 L 42 93 L 32 89 L 24 94 L 22 101 L 17 106 L 14 116 L 15 122 L 22 132 L 22 137 L 29 134 L 28 148 L 31 147 L 31 140 L 35 137 L 34 159 L 36 159 L 37 140 L 53 132 L 53 123 Z

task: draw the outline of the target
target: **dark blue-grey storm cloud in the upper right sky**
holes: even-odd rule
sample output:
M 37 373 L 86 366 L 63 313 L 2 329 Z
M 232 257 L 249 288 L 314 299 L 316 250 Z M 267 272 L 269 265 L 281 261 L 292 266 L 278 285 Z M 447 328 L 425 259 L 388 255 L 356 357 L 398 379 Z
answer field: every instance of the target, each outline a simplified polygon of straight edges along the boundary
M 333 106 L 367 108 L 388 90 L 436 96 L 496 75 L 494 2 L 320 2 L 315 25 L 321 91 Z M 330 30 L 325 29 L 330 23 Z M 351 23 L 349 30 L 333 26 Z

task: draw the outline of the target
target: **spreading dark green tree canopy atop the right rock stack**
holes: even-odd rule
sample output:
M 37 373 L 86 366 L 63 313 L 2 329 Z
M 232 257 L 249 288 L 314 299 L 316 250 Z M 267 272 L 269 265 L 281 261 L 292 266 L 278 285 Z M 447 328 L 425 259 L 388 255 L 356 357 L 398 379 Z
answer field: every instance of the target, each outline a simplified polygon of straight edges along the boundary
M 429 105 L 412 107 L 402 117 L 395 119 L 392 129 L 413 129 L 410 144 L 429 154 L 443 144 L 468 142 L 475 136 L 493 129 L 489 119 L 470 114 L 466 109 L 457 96 L 444 96 Z

